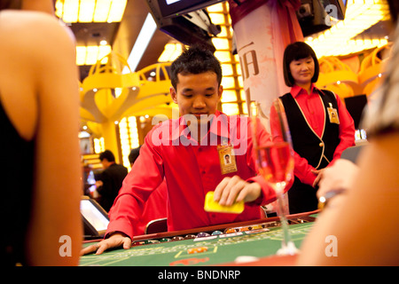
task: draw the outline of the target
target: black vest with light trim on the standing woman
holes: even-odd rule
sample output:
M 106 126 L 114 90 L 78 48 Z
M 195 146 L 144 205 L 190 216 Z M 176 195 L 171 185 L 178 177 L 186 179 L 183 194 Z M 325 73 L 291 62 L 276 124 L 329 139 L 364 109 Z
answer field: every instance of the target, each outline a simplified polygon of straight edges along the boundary
M 332 161 L 335 148 L 340 144 L 339 125 L 331 123 L 327 107 L 331 106 L 338 112 L 338 104 L 332 91 L 319 91 L 318 95 L 325 106 L 325 130 L 319 138 L 309 126 L 300 106 L 291 93 L 286 93 L 280 99 L 286 109 L 286 118 L 293 138 L 293 150 L 316 169 L 325 168 Z

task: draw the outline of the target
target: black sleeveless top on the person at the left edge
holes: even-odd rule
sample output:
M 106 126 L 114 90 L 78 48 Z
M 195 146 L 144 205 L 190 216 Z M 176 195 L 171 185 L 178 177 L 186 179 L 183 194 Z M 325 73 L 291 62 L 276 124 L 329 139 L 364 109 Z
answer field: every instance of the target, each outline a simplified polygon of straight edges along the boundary
M 21 138 L 0 101 L 2 263 L 26 264 L 25 239 L 32 201 L 34 141 Z

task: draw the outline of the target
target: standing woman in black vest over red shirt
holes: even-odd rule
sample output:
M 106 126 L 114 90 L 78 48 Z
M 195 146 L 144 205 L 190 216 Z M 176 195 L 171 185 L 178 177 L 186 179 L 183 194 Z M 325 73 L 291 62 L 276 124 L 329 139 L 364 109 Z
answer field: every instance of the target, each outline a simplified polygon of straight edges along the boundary
M 286 47 L 284 75 L 291 91 L 280 99 L 286 109 L 293 138 L 295 180 L 288 192 L 290 213 L 317 209 L 317 184 L 325 167 L 355 145 L 354 122 L 340 98 L 332 91 L 317 89 L 319 66 L 307 43 Z M 270 123 L 273 125 L 273 108 Z

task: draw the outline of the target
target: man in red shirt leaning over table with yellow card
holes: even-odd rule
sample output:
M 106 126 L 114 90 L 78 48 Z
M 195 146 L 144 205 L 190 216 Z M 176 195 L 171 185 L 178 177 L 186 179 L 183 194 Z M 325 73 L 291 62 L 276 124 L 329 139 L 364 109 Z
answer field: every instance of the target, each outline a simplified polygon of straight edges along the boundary
M 217 111 L 223 92 L 222 69 L 212 52 L 190 48 L 171 66 L 170 95 L 180 117 L 155 126 L 110 211 L 106 240 L 83 253 L 130 248 L 134 224 L 145 200 L 165 178 L 168 188 L 168 231 L 225 224 L 261 217 L 260 205 L 276 199 L 257 175 L 250 120 Z M 262 129 L 256 135 L 270 139 Z M 231 161 L 224 163 L 229 154 Z M 289 186 L 287 186 L 289 188 Z M 241 214 L 206 212 L 205 195 L 230 206 L 245 201 Z

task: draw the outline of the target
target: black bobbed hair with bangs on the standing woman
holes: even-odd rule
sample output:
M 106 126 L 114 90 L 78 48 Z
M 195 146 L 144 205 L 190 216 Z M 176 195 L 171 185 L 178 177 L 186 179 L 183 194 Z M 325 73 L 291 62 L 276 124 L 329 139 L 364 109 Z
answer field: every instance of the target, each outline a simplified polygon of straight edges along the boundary
M 293 75 L 290 71 L 290 63 L 293 60 L 306 59 L 311 57 L 315 61 L 315 75 L 313 75 L 311 82 L 316 83 L 318 79 L 319 66 L 315 51 L 307 44 L 303 42 L 296 42 L 288 44 L 284 51 L 283 58 L 283 69 L 284 69 L 284 81 L 288 87 L 292 87 L 295 83 Z

